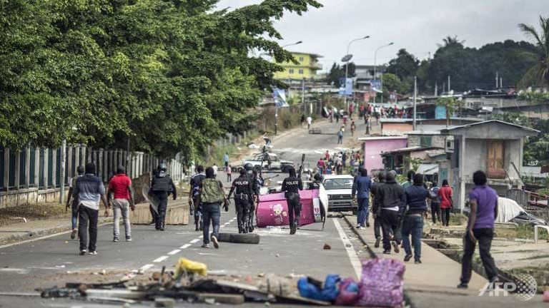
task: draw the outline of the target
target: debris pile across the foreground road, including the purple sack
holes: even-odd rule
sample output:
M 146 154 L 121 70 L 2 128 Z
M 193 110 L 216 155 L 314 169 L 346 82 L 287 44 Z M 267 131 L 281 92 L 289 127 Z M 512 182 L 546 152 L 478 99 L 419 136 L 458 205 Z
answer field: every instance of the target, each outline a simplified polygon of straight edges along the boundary
M 102 303 L 134 304 L 154 301 L 156 307 L 173 307 L 176 302 L 207 304 L 331 304 L 362 307 L 401 307 L 404 264 L 396 260 L 362 262 L 362 278 L 340 278 L 330 274 L 324 283 L 312 277 L 278 277 L 259 274 L 255 284 L 208 274 L 207 266 L 185 258 L 173 271 L 154 272 L 147 282 L 131 278 L 99 284 L 66 283 L 65 287 L 41 290 L 41 297 L 68 297 Z M 299 278 L 297 282 L 293 278 Z

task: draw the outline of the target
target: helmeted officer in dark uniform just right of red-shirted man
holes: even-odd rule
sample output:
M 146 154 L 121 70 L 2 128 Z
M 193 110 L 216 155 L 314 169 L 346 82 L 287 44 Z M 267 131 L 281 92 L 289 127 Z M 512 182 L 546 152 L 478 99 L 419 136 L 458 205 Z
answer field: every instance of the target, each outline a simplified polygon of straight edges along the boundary
M 166 219 L 166 210 L 168 207 L 168 196 L 173 195 L 174 200 L 177 199 L 177 190 L 175 189 L 174 181 L 169 177 L 167 173 L 167 165 L 161 163 L 158 165 L 158 173 L 154 175 L 151 183 L 151 190 L 154 195 L 156 195 L 159 200 L 158 205 L 158 216 L 155 220 L 155 225 L 157 230 L 164 231 L 164 220 Z

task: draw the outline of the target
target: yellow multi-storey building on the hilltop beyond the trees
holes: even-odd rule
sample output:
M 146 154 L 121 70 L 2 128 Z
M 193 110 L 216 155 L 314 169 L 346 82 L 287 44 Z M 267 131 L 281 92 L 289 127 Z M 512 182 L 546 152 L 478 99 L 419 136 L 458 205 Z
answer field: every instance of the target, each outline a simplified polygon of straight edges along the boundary
M 291 52 L 291 51 L 290 51 Z M 314 79 L 322 64 L 317 62 L 322 56 L 315 53 L 291 52 L 298 64 L 292 62 L 279 63 L 284 71 L 274 73 L 275 79 Z

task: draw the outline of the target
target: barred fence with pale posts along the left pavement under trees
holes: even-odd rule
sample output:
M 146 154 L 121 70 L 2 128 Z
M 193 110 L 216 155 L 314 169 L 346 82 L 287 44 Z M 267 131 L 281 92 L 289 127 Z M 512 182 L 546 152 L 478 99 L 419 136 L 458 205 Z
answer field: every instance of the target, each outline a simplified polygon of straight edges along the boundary
M 142 152 L 93 150 L 85 145 L 67 145 L 64 183 L 76 175 L 76 168 L 93 162 L 96 174 L 104 183 L 114 175 L 118 165 L 127 168 L 130 178 L 151 172 L 161 160 Z M 182 164 L 166 162 L 175 182 L 183 177 Z M 0 146 L 0 208 L 23 203 L 59 201 L 61 185 L 61 148 L 25 148 L 13 151 Z M 69 185 L 65 185 L 68 189 Z

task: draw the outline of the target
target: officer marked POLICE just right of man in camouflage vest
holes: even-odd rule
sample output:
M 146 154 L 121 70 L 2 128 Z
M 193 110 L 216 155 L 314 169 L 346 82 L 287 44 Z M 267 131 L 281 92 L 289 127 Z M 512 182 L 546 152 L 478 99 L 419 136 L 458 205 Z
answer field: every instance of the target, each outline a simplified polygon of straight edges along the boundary
M 249 197 L 252 196 L 254 190 L 253 183 L 249 180 L 249 177 L 246 175 L 246 170 L 240 170 L 240 176 L 232 181 L 231 190 L 229 191 L 229 199 L 234 190 L 234 207 L 237 209 L 237 222 L 238 222 L 238 232 L 247 233 L 248 226 L 248 215 L 250 203 L 253 202 L 253 199 Z

